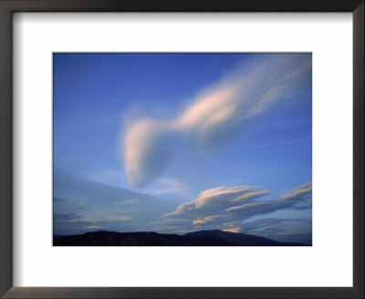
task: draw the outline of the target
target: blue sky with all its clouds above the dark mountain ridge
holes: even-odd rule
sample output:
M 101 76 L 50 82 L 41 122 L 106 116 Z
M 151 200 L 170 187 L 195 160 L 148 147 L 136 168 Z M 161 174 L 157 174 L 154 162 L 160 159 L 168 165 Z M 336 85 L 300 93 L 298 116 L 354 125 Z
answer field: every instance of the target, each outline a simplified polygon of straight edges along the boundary
M 311 242 L 310 54 L 53 59 L 55 233 Z

